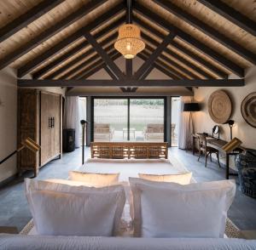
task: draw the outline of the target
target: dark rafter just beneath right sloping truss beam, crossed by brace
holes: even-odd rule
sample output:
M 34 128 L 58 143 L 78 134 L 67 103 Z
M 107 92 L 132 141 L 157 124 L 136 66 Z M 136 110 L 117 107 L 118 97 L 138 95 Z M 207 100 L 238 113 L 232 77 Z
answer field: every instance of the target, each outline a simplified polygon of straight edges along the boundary
M 143 20 L 140 20 L 137 17 L 133 17 L 133 20 L 135 20 L 139 26 L 142 26 L 143 29 L 146 29 L 147 31 L 153 33 L 154 36 L 160 37 L 161 39 L 163 39 L 165 37 L 165 35 L 160 33 L 160 31 L 157 31 L 152 26 L 148 26 L 148 24 L 143 22 Z M 191 60 L 196 61 L 200 65 L 202 65 L 205 68 L 207 68 L 209 71 L 212 71 L 215 75 L 218 75 L 218 77 L 224 78 L 224 79 L 228 78 L 227 74 L 225 74 L 223 71 L 220 71 L 217 67 L 215 67 L 214 65 L 210 64 L 209 62 L 207 62 L 207 60 L 202 59 L 200 56 L 198 56 L 196 54 L 193 54 L 187 48 L 183 48 L 182 46 L 180 46 L 175 41 L 172 41 L 171 45 L 172 45 L 172 47 L 177 48 L 178 50 L 180 50 L 183 54 L 186 54 L 187 56 L 189 56 L 189 58 Z M 171 49 L 168 51 L 169 54 L 170 54 L 170 51 L 171 51 Z M 211 78 L 211 77 L 209 77 L 209 78 Z

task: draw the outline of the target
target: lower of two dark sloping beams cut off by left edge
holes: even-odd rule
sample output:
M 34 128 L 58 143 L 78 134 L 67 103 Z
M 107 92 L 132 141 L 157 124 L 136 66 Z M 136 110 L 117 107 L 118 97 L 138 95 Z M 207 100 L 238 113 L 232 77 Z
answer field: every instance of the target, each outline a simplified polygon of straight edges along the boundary
M 67 26 L 72 25 L 73 22 L 82 18 L 85 14 L 88 14 L 91 11 L 95 10 L 106 1 L 107 0 L 95 0 L 93 2 L 89 2 L 79 10 L 73 12 L 72 14 L 69 14 L 67 17 L 60 20 L 54 26 L 50 26 L 49 29 L 43 31 L 37 37 L 32 38 L 32 40 L 30 40 L 28 43 L 21 45 L 20 48 L 15 49 L 12 53 L 4 57 L 3 60 L 0 60 L 0 70 L 20 58 L 22 55 L 30 52 L 33 48 L 38 47 L 39 44 L 44 43 L 44 41 L 48 40 L 56 33 L 67 28 Z

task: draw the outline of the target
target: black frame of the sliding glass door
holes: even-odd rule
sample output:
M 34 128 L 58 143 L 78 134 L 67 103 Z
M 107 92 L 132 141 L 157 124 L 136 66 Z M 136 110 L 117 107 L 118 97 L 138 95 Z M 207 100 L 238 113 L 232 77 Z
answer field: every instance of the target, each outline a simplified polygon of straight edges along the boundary
M 164 141 L 166 142 L 166 96 L 92 96 L 91 97 L 91 126 L 90 126 L 90 141 L 94 141 L 94 100 L 95 99 L 127 99 L 127 141 L 130 141 L 130 100 L 131 99 L 163 99 L 164 100 Z

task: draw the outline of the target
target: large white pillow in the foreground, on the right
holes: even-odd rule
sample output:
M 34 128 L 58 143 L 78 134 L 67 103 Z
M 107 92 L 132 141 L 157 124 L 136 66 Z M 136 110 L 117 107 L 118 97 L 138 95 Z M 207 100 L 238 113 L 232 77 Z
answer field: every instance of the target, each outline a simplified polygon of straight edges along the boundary
M 233 180 L 179 185 L 130 178 L 134 236 L 224 237 Z

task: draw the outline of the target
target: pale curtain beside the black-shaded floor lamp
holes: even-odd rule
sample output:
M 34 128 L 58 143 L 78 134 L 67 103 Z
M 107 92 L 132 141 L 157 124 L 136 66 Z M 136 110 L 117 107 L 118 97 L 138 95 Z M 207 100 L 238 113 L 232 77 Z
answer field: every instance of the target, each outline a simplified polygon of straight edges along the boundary
M 191 149 L 192 141 L 191 141 L 191 122 L 189 122 L 189 112 L 183 112 L 184 103 L 190 102 L 189 96 L 181 97 L 180 102 L 180 120 L 179 120 L 179 129 L 178 129 L 178 148 L 187 150 Z M 190 128 L 189 128 L 190 126 Z

